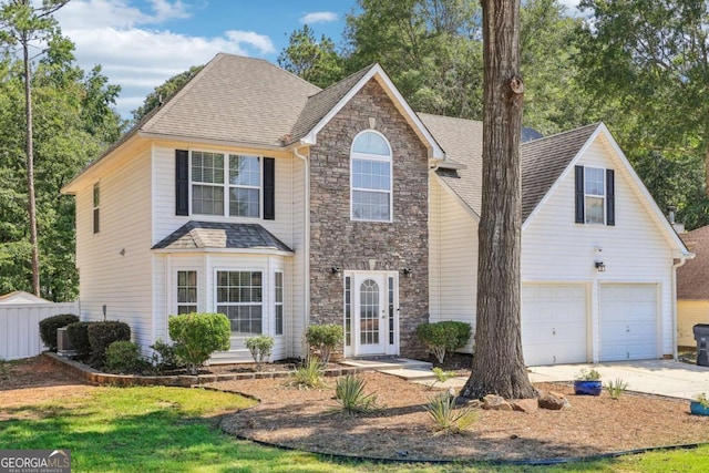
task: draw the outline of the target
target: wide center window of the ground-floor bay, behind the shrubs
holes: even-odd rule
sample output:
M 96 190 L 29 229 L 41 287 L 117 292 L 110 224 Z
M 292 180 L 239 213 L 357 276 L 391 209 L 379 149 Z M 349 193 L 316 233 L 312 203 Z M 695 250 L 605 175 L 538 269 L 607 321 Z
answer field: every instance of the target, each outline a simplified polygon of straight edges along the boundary
M 217 312 L 232 322 L 237 337 L 260 335 L 263 327 L 263 277 L 260 271 L 217 271 Z

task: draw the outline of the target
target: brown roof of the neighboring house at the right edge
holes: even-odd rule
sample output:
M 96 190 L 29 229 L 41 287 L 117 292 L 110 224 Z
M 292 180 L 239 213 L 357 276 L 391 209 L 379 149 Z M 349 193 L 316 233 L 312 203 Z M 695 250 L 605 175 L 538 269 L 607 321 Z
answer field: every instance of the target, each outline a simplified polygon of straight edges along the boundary
M 709 226 L 679 234 L 695 258 L 677 268 L 678 299 L 709 299 Z

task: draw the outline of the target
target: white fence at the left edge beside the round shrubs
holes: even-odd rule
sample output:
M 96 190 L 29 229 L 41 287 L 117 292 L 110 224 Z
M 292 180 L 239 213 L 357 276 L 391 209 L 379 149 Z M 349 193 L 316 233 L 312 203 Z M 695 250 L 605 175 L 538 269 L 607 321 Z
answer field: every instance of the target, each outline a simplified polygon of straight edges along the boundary
M 59 313 L 79 316 L 79 302 L 0 305 L 0 359 L 18 360 L 47 350 L 40 320 Z

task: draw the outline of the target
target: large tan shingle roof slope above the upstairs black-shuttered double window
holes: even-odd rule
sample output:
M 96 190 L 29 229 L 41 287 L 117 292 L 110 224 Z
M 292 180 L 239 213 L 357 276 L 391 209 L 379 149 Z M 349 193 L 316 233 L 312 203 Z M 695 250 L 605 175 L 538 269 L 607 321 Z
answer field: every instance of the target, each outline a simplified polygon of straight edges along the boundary
M 280 146 L 308 97 L 318 92 L 316 85 L 266 60 L 220 53 L 141 131 Z

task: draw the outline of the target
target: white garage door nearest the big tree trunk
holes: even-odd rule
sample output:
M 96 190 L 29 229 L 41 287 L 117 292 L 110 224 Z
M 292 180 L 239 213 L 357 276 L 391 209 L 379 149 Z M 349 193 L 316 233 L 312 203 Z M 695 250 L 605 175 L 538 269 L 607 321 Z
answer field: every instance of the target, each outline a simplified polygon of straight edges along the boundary
M 583 285 L 522 286 L 522 347 L 527 366 L 587 361 Z

